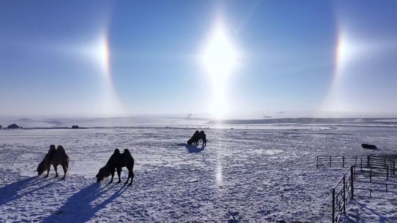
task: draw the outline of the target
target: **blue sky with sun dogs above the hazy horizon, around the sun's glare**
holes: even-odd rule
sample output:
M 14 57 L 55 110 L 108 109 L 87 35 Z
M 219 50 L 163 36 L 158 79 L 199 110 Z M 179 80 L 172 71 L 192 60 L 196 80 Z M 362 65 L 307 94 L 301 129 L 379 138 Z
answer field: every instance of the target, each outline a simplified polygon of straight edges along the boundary
M 396 112 L 396 10 L 393 0 L 2 1 L 0 115 Z M 222 83 L 202 63 L 216 24 L 237 55 Z

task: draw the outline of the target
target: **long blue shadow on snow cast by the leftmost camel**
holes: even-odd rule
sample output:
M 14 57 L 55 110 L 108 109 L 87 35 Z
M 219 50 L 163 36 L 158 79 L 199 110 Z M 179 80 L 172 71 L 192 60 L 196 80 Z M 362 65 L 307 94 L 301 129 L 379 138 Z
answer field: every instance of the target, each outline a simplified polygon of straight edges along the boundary
M 38 186 L 30 190 L 31 187 L 43 182 L 44 178 L 35 176 L 3 186 L 2 188 L 0 188 L 0 206 L 7 204 L 8 202 L 11 202 L 13 200 L 17 200 L 28 194 L 31 194 L 32 192 L 35 192 L 37 190 L 41 190 L 43 188 L 51 186 L 55 183 L 47 183 L 46 185 Z

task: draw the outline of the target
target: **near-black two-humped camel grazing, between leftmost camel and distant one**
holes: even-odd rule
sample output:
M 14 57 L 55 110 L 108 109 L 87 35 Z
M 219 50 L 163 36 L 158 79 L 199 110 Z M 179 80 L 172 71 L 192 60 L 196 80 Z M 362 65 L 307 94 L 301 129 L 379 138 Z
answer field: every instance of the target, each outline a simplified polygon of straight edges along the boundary
M 123 153 L 120 153 L 119 149 L 115 149 L 112 156 L 110 156 L 110 159 L 106 163 L 106 165 L 102 168 L 99 169 L 98 174 L 96 174 L 96 182 L 102 181 L 105 177 L 109 177 L 112 175 L 112 179 L 110 180 L 109 183 L 113 182 L 113 177 L 114 177 L 114 172 L 117 170 L 117 175 L 119 177 L 119 181 L 117 183 L 121 183 L 121 168 L 122 167 L 127 167 L 128 169 L 128 179 L 125 181 L 124 184 L 128 183 L 129 179 L 131 178 L 131 183 L 132 184 L 132 179 L 134 179 L 134 173 L 133 173 L 133 168 L 134 168 L 134 158 L 131 156 L 131 153 L 129 152 L 128 149 L 124 149 Z

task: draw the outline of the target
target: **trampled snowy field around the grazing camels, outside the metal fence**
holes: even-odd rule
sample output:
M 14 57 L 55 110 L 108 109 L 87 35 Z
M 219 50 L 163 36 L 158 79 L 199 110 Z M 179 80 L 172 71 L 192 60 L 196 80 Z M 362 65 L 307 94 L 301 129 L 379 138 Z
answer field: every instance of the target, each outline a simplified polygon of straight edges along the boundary
M 331 188 L 346 169 L 317 169 L 316 156 L 377 154 L 397 144 L 395 128 L 244 127 L 204 129 L 205 148 L 186 146 L 196 130 L 187 128 L 0 130 L 0 222 L 330 222 Z M 36 176 L 50 144 L 70 157 L 65 181 L 53 169 Z M 115 148 L 135 158 L 132 186 L 95 181 Z M 371 202 L 379 201 L 368 202 L 376 213 Z M 362 212 L 356 207 L 348 206 Z

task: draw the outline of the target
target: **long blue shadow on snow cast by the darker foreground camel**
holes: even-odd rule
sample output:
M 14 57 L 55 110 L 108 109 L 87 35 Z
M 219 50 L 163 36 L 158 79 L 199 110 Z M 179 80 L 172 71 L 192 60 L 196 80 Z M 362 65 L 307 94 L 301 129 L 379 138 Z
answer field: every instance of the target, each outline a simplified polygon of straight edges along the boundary
M 112 189 L 113 185 L 106 185 L 101 187 L 100 183 L 94 183 L 86 188 L 81 189 L 79 192 L 73 194 L 54 213 L 42 220 L 45 222 L 74 222 L 83 223 L 90 221 L 96 212 L 104 208 L 107 204 L 111 203 L 113 200 L 118 198 L 125 190 L 127 190 L 127 185 L 120 185 L 120 188 L 112 193 L 112 195 L 104 200 L 102 203 L 97 205 L 92 205 L 91 203 L 99 197 L 106 196 L 106 192 Z M 107 188 L 106 188 L 107 187 Z M 105 189 L 106 188 L 106 189 Z

